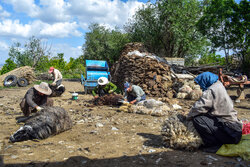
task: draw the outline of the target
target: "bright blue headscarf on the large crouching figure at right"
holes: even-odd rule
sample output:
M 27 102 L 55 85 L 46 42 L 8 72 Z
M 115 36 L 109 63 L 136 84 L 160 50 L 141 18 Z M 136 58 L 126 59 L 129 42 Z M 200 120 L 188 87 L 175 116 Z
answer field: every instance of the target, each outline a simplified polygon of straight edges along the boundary
M 211 86 L 213 83 L 217 82 L 219 79 L 218 75 L 215 75 L 211 72 L 203 72 L 200 75 L 198 75 L 194 81 L 200 85 L 202 90 L 207 90 L 209 86 Z

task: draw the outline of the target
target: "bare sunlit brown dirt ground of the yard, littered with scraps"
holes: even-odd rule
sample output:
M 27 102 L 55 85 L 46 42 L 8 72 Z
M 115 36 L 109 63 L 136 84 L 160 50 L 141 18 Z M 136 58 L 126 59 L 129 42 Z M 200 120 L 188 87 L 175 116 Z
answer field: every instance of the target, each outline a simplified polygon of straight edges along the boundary
M 22 124 L 19 103 L 29 87 L 0 90 L 0 166 L 178 166 L 250 167 L 237 157 L 222 157 L 202 151 L 187 152 L 165 148 L 160 136 L 166 117 L 118 112 L 109 106 L 90 105 L 80 82 L 64 81 L 66 92 L 54 97 L 54 105 L 65 108 L 73 122 L 71 130 L 45 140 L 9 143 L 10 135 Z M 73 92 L 78 100 L 71 100 Z M 228 90 L 232 99 L 236 90 Z M 250 88 L 247 98 L 235 104 L 240 119 L 250 120 Z M 194 101 L 179 105 L 188 111 Z

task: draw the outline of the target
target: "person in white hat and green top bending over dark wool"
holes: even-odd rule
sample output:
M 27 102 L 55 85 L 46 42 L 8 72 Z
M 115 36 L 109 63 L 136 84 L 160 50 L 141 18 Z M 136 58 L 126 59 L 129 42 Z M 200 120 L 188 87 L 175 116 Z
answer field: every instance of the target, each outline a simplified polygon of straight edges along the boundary
M 95 99 L 99 96 L 104 96 L 105 94 L 111 94 L 116 91 L 117 86 L 112 82 L 108 81 L 108 78 L 100 77 L 97 80 L 98 85 L 92 90 L 92 95 Z

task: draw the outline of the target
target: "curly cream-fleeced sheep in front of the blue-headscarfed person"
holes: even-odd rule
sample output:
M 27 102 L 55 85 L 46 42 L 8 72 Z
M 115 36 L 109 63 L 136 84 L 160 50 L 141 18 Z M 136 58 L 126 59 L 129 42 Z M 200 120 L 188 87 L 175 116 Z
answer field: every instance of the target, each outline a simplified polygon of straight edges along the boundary
M 168 117 L 163 123 L 161 134 L 164 144 L 173 149 L 194 151 L 202 144 L 202 139 L 192 121 L 181 114 Z

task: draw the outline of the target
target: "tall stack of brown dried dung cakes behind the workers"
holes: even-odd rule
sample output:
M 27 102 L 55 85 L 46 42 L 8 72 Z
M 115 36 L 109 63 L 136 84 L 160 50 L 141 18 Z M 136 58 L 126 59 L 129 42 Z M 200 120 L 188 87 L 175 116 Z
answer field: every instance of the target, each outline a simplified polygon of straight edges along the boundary
M 173 97 L 170 66 L 147 52 L 141 43 L 128 43 L 111 73 L 112 81 L 120 88 L 128 81 L 141 86 L 147 95 Z

